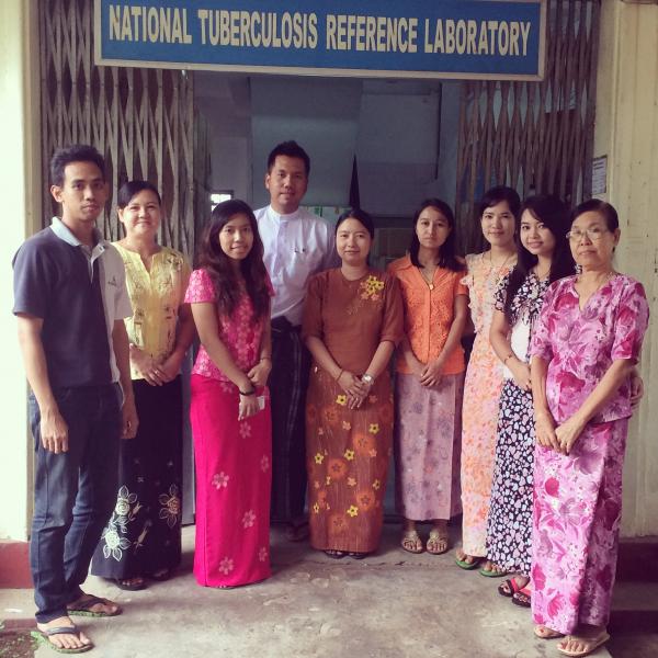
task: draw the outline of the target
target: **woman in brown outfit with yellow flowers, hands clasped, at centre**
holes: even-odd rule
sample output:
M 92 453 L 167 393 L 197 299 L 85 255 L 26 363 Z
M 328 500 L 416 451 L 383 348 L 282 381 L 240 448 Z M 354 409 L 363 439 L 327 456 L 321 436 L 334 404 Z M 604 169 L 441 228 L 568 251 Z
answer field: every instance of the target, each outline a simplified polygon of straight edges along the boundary
M 310 543 L 336 558 L 362 558 L 379 543 L 392 454 L 387 365 L 402 334 L 395 277 L 372 270 L 371 217 L 338 220 L 340 269 L 308 284 L 302 336 L 314 363 L 306 402 Z

